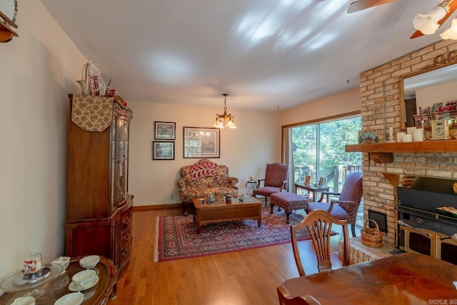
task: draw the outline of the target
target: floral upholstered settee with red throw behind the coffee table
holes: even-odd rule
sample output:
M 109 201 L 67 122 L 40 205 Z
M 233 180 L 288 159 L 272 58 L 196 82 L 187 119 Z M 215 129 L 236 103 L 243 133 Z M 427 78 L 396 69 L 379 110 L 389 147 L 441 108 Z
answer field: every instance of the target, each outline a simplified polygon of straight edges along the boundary
M 194 165 L 181 167 L 181 179 L 178 181 L 183 214 L 187 215 L 187 206 L 194 198 L 208 198 L 209 195 L 222 197 L 238 196 L 238 178 L 229 177 L 229 168 L 217 165 L 209 159 L 201 159 Z

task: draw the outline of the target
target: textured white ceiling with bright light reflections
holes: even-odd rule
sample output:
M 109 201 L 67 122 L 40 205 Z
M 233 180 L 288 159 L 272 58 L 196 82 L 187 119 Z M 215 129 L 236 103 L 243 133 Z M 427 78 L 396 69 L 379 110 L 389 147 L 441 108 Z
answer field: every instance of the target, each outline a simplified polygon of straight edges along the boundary
M 436 0 L 353 14 L 341 0 L 41 2 L 127 101 L 223 106 L 228 93 L 229 109 L 287 109 L 440 40 L 409 38 L 413 16 Z

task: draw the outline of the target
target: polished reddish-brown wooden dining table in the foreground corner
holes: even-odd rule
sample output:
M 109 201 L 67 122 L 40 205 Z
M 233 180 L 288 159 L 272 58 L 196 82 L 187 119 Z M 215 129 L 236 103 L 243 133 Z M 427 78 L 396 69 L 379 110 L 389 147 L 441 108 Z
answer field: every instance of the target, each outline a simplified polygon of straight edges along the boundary
M 401 253 L 277 287 L 279 304 L 457 304 L 457 266 L 431 256 Z

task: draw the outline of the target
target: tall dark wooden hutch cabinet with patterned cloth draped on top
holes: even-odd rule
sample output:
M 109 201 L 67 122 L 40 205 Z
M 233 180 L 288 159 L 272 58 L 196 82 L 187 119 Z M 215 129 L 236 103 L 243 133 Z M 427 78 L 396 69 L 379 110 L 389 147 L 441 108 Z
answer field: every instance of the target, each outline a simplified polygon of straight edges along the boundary
M 69 99 L 66 256 L 105 256 L 121 276 L 131 257 L 133 112 L 119 96 L 69 94 Z

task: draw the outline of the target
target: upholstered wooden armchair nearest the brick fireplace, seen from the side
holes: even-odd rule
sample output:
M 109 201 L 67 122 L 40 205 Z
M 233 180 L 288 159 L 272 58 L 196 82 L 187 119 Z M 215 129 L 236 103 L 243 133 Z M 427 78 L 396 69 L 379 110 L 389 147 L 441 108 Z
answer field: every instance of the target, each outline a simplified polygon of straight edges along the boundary
M 324 195 L 327 195 L 327 198 L 328 195 L 339 195 L 339 199 L 332 200 L 331 203 L 309 202 L 308 212 L 317 209 L 326 210 L 336 219 L 347 220 L 351 224 L 352 236 L 356 236 L 357 210 L 363 196 L 363 174 L 360 171 L 348 174 L 341 193 L 324 191 L 320 200 Z

